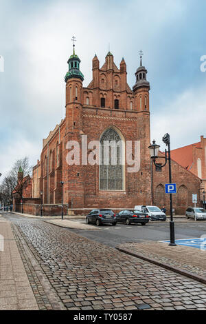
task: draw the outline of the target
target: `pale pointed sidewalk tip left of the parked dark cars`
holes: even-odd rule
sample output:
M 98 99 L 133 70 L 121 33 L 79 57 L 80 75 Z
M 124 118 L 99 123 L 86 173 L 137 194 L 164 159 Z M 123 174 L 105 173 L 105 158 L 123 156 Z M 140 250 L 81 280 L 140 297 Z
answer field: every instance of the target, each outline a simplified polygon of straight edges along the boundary
M 68 219 L 54 219 L 54 221 L 44 221 L 45 223 L 50 223 L 52 225 L 75 229 L 75 230 L 88 230 L 95 231 L 100 230 L 100 227 L 93 225 L 87 225 L 86 223 L 81 223 L 80 221 L 69 221 Z

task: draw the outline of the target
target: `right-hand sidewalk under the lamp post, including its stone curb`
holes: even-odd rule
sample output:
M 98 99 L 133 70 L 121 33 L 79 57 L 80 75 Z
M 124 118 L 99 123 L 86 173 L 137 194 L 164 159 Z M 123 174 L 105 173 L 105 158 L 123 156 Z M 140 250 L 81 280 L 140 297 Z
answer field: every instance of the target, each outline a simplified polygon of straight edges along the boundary
M 194 247 L 144 242 L 117 245 L 117 250 L 206 283 L 206 253 Z

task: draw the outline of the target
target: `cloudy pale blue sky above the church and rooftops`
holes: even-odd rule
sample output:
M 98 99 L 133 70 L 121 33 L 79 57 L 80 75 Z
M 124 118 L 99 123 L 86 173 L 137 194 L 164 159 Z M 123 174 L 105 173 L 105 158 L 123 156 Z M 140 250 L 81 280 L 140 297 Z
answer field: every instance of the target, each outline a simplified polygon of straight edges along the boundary
M 0 173 L 24 156 L 35 165 L 43 138 L 65 118 L 73 35 L 85 87 L 94 55 L 102 66 L 110 44 L 132 88 L 143 50 L 151 141 L 162 150 L 167 132 L 172 149 L 206 136 L 205 12 L 205 0 L 0 0 Z

